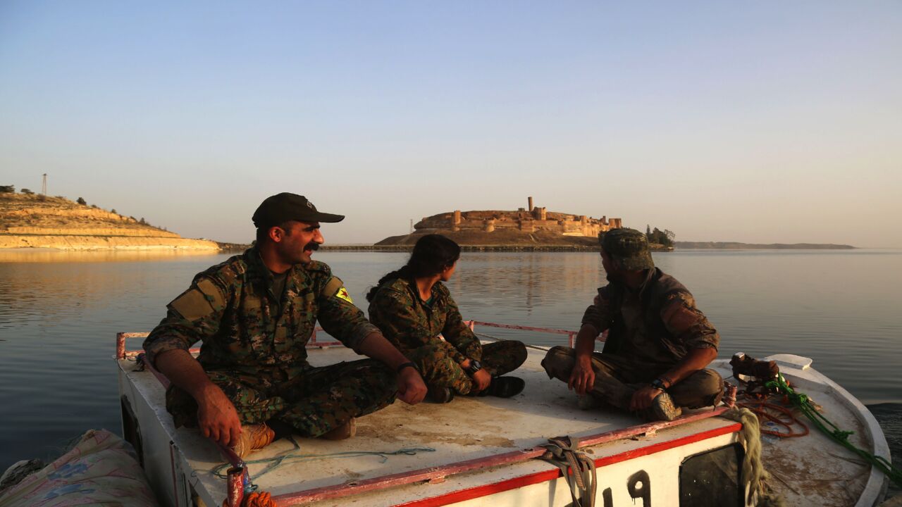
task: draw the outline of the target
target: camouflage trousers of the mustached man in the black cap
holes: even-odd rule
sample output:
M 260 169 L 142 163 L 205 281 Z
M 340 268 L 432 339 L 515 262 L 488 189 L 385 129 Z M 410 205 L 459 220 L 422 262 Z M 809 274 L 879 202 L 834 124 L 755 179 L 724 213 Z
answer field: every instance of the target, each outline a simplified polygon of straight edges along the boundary
M 242 424 L 279 419 L 303 437 L 318 437 L 351 418 L 387 407 L 397 394 L 395 374 L 372 359 L 311 368 L 283 382 L 267 374 L 207 375 L 235 405 Z M 187 392 L 170 386 L 166 410 L 177 428 L 197 427 L 198 404 Z

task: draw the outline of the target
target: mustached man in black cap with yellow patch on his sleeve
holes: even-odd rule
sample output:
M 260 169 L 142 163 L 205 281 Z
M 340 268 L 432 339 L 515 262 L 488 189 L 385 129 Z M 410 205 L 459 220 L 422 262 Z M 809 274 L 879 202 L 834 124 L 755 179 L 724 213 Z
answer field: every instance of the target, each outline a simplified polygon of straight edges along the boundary
M 198 273 L 144 341 L 147 360 L 171 381 L 166 408 L 176 427 L 198 426 L 239 456 L 295 431 L 354 435 L 354 418 L 422 401 L 413 364 L 354 306 L 329 267 L 311 259 L 323 243 L 320 213 L 281 193 L 253 214 L 256 244 Z M 373 359 L 315 368 L 306 345 L 317 320 L 345 346 Z M 203 344 L 195 360 L 189 346 Z

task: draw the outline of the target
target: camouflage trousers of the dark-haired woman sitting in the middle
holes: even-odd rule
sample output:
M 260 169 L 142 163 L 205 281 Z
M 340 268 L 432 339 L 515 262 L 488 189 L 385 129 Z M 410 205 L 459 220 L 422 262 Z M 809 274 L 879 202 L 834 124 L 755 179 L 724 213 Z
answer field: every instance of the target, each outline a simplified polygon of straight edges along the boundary
M 445 340 L 436 340 L 425 346 L 405 350 L 404 355 L 417 365 L 423 381 L 429 388 L 449 387 L 456 394 L 467 394 L 473 389 L 473 381 L 460 364 L 451 358 L 454 346 Z M 526 346 L 522 342 L 504 340 L 483 344 L 480 363 L 492 375 L 498 377 L 520 367 L 526 361 Z

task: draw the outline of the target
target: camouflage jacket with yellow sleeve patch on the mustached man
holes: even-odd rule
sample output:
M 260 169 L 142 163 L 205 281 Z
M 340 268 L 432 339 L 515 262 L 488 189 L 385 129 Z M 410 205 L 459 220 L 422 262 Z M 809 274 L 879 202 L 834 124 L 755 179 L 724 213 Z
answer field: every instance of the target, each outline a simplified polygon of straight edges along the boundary
M 251 248 L 194 277 L 144 341 L 148 360 L 199 341 L 207 371 L 272 373 L 293 377 L 308 368 L 306 345 L 319 320 L 326 332 L 358 350 L 378 329 L 354 306 L 324 263 L 296 264 L 279 297 L 272 272 Z

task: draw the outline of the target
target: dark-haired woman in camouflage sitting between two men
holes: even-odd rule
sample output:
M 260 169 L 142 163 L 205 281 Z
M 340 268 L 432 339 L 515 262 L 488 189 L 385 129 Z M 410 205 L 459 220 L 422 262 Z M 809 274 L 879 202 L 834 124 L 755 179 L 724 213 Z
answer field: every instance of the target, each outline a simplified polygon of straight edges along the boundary
M 451 279 L 459 257 L 460 246 L 443 235 L 419 238 L 410 261 L 366 295 L 370 321 L 416 364 L 428 400 L 446 403 L 455 394 L 509 398 L 523 391 L 523 379 L 501 375 L 526 361 L 526 346 L 479 343 L 442 283 Z

